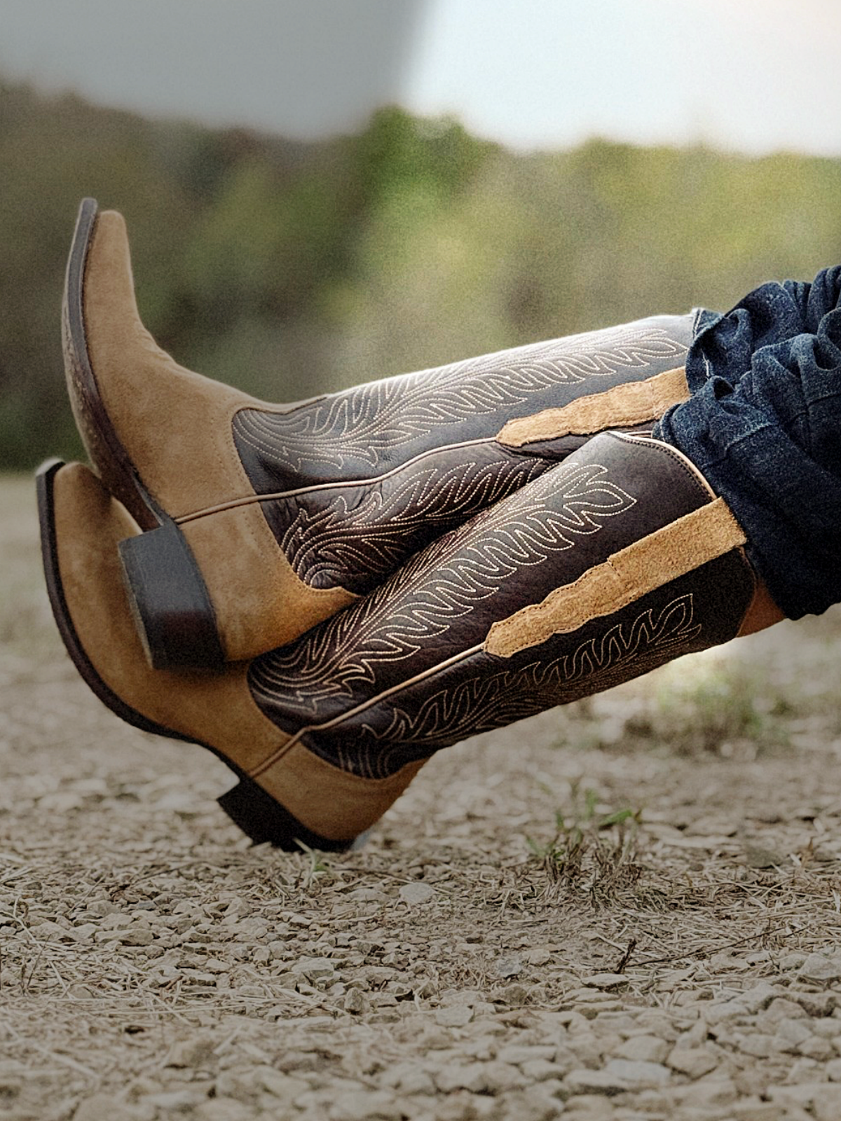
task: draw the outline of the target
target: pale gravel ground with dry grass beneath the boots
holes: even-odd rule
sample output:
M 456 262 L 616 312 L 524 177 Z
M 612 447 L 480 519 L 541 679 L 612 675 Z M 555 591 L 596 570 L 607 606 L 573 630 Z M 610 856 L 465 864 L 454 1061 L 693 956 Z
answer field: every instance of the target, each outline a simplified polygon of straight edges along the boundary
M 288 855 L 77 679 L 28 480 L 0 548 L 0 1119 L 841 1118 L 838 611 L 443 752 L 364 849 Z

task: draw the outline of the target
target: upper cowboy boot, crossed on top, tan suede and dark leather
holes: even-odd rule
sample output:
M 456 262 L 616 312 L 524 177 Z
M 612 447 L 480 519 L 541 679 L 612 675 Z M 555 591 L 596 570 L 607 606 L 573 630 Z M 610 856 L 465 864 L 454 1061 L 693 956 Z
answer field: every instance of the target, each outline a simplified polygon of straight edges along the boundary
M 650 427 L 688 396 L 693 322 L 641 319 L 269 405 L 155 344 L 124 223 L 85 200 L 67 383 L 94 469 L 144 530 L 119 549 L 150 664 L 218 667 L 289 642 L 591 434 Z

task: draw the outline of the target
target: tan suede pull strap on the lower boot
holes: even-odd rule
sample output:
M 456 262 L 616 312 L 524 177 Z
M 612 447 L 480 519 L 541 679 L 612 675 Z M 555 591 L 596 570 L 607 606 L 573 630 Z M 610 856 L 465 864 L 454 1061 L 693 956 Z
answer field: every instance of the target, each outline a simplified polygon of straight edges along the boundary
M 727 503 L 717 498 L 613 553 L 572 584 L 549 592 L 543 602 L 493 623 L 484 650 L 510 658 L 553 634 L 575 631 L 591 619 L 611 615 L 746 541 Z

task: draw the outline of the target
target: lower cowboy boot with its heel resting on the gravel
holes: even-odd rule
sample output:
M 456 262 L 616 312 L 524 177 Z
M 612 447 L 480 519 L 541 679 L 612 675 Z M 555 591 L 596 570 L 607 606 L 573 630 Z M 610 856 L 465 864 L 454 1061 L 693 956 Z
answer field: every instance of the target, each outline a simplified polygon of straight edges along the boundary
M 680 452 L 608 433 L 452 530 L 294 643 L 218 674 L 153 670 L 114 545 L 138 534 L 86 467 L 39 475 L 53 610 L 119 716 L 240 777 L 255 841 L 342 849 L 440 748 L 780 618 L 745 535 Z

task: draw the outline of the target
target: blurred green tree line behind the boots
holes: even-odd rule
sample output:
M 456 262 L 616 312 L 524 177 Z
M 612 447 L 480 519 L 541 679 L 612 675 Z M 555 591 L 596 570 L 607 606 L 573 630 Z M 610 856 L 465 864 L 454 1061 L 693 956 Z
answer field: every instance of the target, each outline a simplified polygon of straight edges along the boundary
M 59 302 L 84 195 L 126 215 L 182 363 L 295 400 L 841 260 L 841 161 L 594 139 L 521 155 L 397 108 L 299 143 L 0 81 L 0 467 L 78 456 Z

